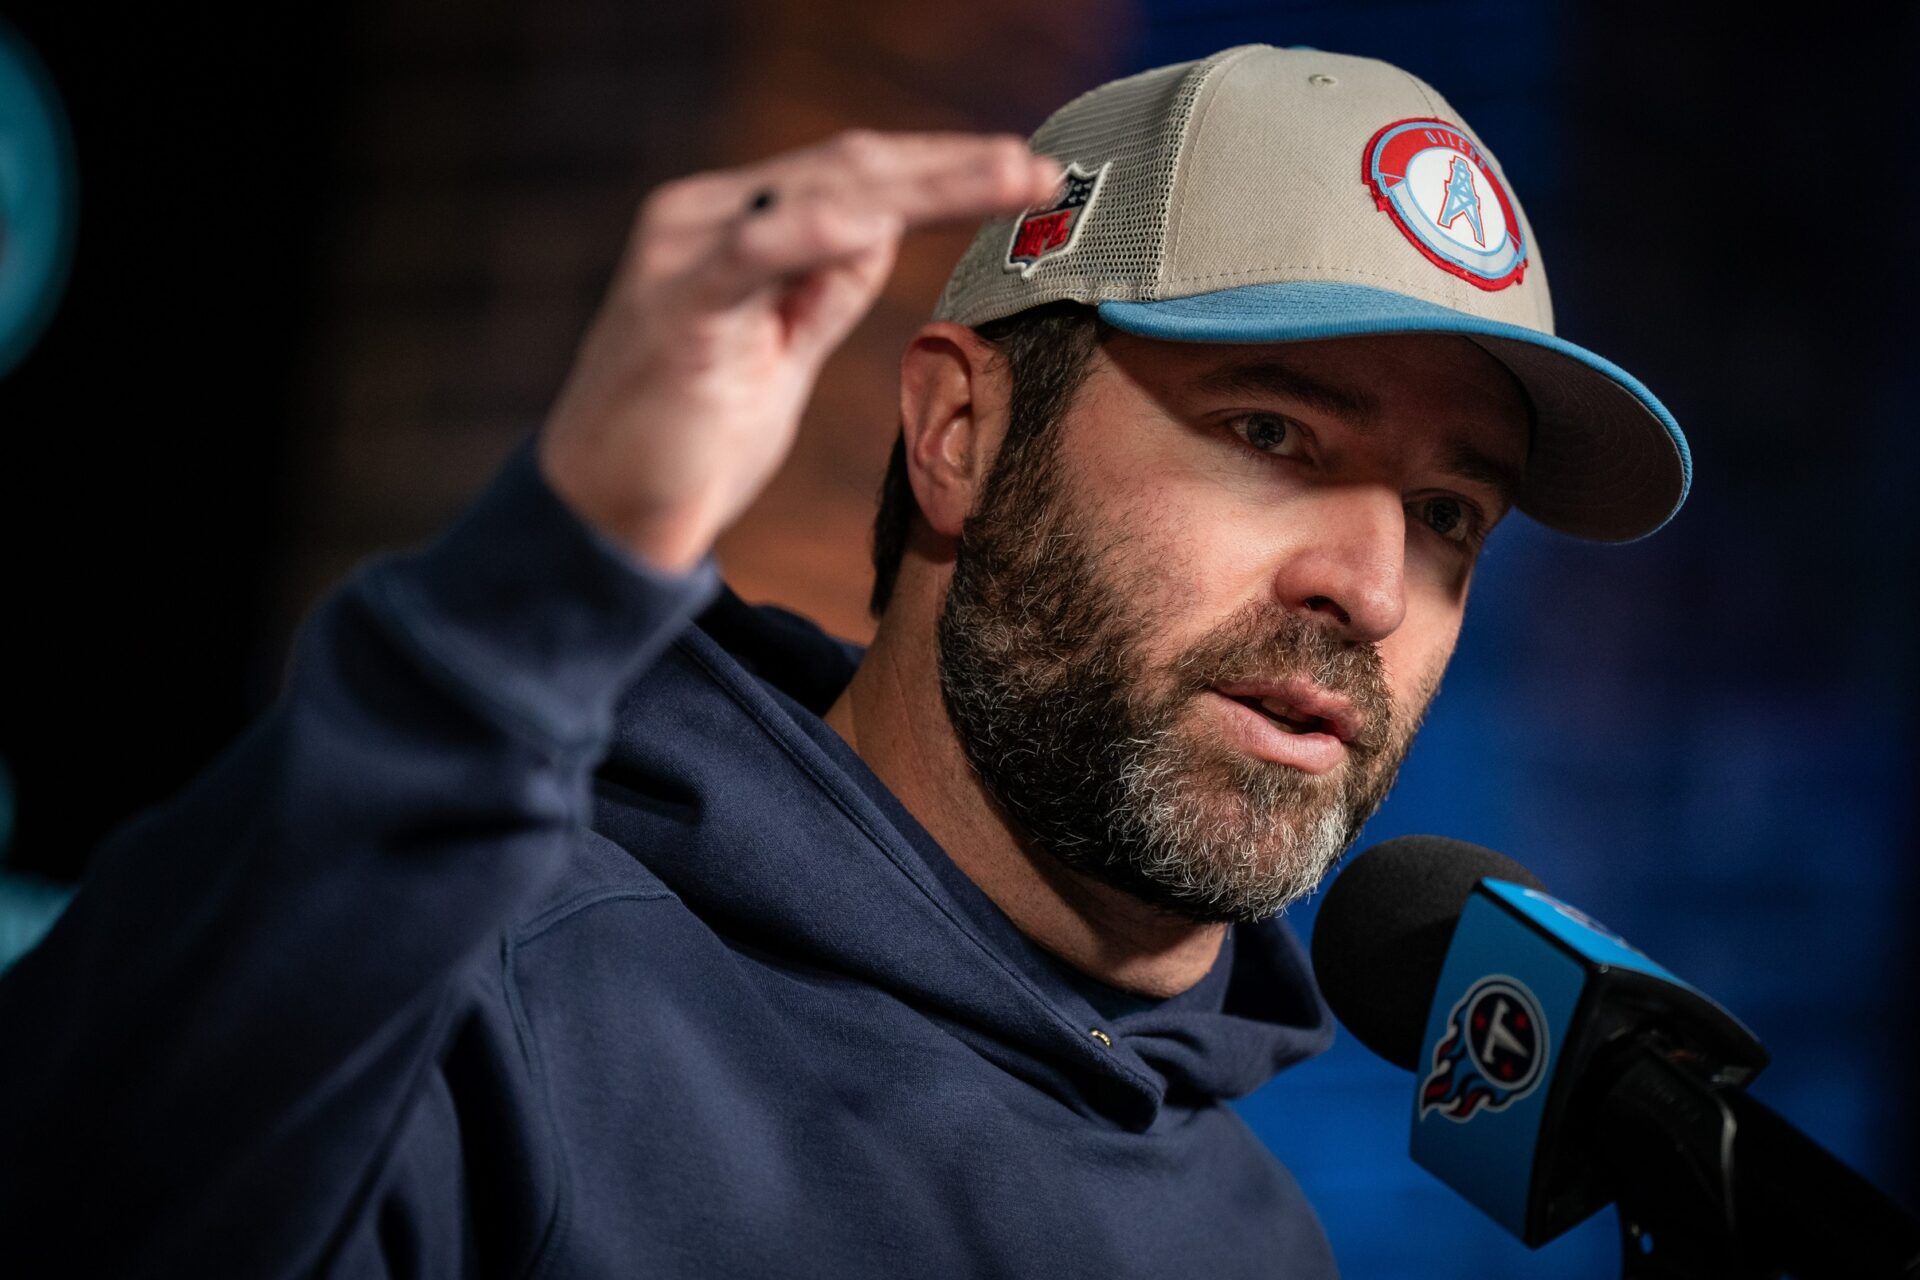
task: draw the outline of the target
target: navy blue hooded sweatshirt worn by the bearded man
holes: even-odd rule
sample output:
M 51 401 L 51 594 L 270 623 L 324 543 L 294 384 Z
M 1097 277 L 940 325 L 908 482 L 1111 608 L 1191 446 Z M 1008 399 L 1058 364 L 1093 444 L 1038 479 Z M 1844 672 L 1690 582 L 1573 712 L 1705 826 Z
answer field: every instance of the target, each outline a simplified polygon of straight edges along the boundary
M 820 720 L 858 658 L 522 441 L 0 979 L 0 1270 L 1334 1274 L 1223 1105 L 1329 1042 L 1290 931 L 1066 971 Z

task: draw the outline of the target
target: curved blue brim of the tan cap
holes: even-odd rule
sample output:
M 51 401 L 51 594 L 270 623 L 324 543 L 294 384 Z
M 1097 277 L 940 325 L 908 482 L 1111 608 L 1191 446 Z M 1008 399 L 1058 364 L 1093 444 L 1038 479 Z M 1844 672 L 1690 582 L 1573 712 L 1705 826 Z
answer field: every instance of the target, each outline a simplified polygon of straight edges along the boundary
M 1169 342 L 1465 334 L 1511 368 L 1534 401 L 1534 441 L 1515 507 L 1576 537 L 1645 537 L 1680 510 L 1693 484 L 1686 436 L 1653 391 L 1611 361 L 1534 328 L 1321 280 L 1104 301 L 1098 309 L 1114 328 Z

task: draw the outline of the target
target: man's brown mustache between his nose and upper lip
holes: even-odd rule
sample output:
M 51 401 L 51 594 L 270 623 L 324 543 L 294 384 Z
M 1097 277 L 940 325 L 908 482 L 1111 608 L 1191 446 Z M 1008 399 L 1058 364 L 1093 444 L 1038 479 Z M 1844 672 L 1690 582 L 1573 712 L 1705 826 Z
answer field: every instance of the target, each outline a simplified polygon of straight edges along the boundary
M 1175 662 L 1183 697 L 1213 685 L 1306 679 L 1344 697 L 1359 716 L 1348 750 L 1375 756 L 1392 743 L 1386 660 L 1371 641 L 1348 641 L 1319 614 L 1256 604 L 1210 631 Z

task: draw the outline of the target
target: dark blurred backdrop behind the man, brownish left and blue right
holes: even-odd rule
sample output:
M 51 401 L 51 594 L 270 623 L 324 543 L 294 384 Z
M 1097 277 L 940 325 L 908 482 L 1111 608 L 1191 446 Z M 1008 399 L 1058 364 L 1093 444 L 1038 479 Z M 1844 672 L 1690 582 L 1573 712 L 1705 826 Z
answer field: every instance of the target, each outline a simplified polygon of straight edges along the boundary
M 13 883 L 81 875 L 265 706 L 319 593 L 478 491 L 651 184 L 854 123 L 1029 132 L 1098 81 L 1250 40 L 1371 54 L 1494 150 L 1559 332 L 1667 401 L 1697 474 L 1645 543 L 1501 528 L 1365 841 L 1528 862 L 1720 996 L 1774 1050 L 1755 1092 L 1912 1205 L 1914 12 L 8 6 L 79 173 L 65 297 L 0 380 Z M 747 599 L 868 635 L 895 361 L 968 234 L 906 248 L 724 541 Z M 1409 1090 L 1342 1036 L 1244 1103 L 1346 1274 L 1619 1274 L 1611 1211 L 1530 1253 L 1413 1167 Z

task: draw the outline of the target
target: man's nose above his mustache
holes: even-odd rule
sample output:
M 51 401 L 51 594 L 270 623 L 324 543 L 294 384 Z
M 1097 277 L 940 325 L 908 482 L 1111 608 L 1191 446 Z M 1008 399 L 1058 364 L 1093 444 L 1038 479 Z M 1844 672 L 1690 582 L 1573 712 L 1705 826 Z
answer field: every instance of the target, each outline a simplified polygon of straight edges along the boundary
M 1407 616 L 1407 512 L 1384 486 L 1342 486 L 1319 495 L 1308 532 L 1275 576 L 1290 608 L 1327 614 L 1356 643 L 1386 639 Z

